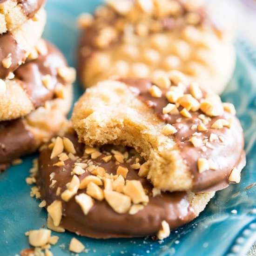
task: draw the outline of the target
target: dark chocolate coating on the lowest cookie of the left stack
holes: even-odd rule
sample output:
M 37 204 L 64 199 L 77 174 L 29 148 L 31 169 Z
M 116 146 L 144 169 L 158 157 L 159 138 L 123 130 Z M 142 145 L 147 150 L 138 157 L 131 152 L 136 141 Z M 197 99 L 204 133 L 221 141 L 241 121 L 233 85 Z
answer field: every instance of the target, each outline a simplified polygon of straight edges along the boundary
M 20 118 L 0 122 L 0 171 L 21 155 L 27 155 L 34 149 L 34 135 L 27 130 Z

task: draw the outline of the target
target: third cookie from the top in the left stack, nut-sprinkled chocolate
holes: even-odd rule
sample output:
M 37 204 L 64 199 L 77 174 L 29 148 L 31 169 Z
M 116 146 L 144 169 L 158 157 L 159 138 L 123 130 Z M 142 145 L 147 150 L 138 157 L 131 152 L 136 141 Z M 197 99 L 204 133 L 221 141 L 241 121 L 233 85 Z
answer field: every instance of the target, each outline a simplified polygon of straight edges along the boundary
M 0 121 L 27 115 L 53 99 L 55 94 L 61 97 L 68 90 L 66 85 L 74 81 L 74 68 L 67 67 L 67 61 L 56 47 L 40 40 L 36 49 L 32 56 L 35 59 L 27 60 L 14 71 L 13 79 L 4 82 Z

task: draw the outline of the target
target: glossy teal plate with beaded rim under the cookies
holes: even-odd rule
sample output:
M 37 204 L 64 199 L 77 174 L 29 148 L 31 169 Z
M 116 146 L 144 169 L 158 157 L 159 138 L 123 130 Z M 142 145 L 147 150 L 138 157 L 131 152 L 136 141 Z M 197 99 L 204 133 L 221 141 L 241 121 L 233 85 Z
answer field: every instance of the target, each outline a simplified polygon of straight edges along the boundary
M 100 0 L 48 0 L 48 22 L 44 37 L 56 44 L 75 65 L 78 31 L 75 19 L 81 12 L 92 12 Z M 150 238 L 94 240 L 79 237 L 86 255 L 246 255 L 256 241 L 256 50 L 245 41 L 236 41 L 236 72 L 222 95 L 237 108 L 245 134 L 247 166 L 242 181 L 216 193 L 205 211 L 195 221 L 173 230 L 163 242 Z M 75 100 L 82 91 L 75 83 Z M 0 256 L 14 256 L 29 248 L 27 230 L 46 226 L 46 210 L 29 196 L 25 183 L 37 155 L 23 159 L 0 175 Z M 249 189 L 249 185 L 251 188 Z M 139 229 L 140 227 L 138 227 Z M 68 244 L 75 234 L 58 234 L 52 248 L 55 256 L 71 255 Z M 60 247 L 60 244 L 64 244 Z

